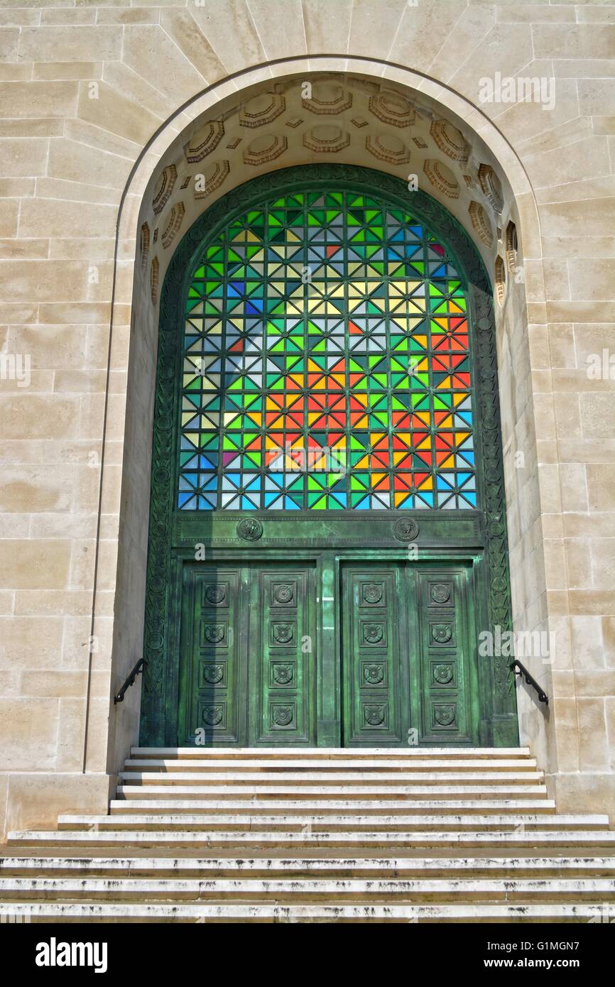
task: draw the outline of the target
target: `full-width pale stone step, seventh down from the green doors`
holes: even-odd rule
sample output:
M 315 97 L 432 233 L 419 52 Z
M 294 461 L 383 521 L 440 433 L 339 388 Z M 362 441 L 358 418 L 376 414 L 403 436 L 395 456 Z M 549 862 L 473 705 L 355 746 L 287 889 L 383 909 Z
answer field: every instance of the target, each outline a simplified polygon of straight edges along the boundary
M 165 830 L 26 830 L 12 832 L 9 846 L 62 846 L 72 847 L 121 846 L 234 846 L 244 849 L 264 847 L 347 847 L 350 853 L 356 847 L 615 847 L 614 830 L 570 829 L 528 831 L 452 831 L 428 830 L 404 832 L 355 832 L 353 830 L 293 832 L 288 830 L 268 832 L 242 830 L 237 832 L 213 831 L 170 832 Z

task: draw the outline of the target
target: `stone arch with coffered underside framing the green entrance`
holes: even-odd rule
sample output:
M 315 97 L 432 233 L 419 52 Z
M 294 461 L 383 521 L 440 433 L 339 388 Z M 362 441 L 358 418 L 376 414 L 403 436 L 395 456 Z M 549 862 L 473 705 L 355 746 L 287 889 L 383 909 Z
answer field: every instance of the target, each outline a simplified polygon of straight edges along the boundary
M 352 85 L 348 79 L 354 80 Z M 310 114 L 310 125 L 295 122 L 296 115 L 291 115 L 294 113 L 293 89 L 305 80 L 314 84 L 311 97 L 300 103 L 306 119 Z M 331 91 L 327 89 L 328 85 Z M 342 93 L 338 91 L 340 88 Z M 359 114 L 356 92 L 364 97 L 370 114 L 367 119 L 365 112 Z M 348 101 L 350 95 L 352 100 Z M 349 122 L 346 122 L 348 114 Z M 341 119 L 344 119 L 344 126 L 340 125 Z M 233 120 L 232 126 L 230 120 Z M 241 129 L 235 133 L 235 127 Z M 273 132 L 274 128 L 283 128 L 283 132 Z M 407 139 L 404 139 L 404 128 L 407 128 Z M 235 144 L 239 133 L 241 142 Z M 360 160 L 357 160 L 356 140 L 346 140 L 348 133 L 362 138 Z M 400 136 L 402 133 L 404 137 Z M 516 155 L 479 108 L 420 73 L 363 58 L 315 57 L 310 59 L 309 67 L 305 60 L 288 59 L 243 72 L 236 79 L 226 79 L 174 114 L 135 165 L 122 198 L 118 220 L 118 243 L 128 245 L 130 260 L 138 232 L 145 223 L 151 234 L 148 256 L 143 260 L 141 253 L 137 258 L 129 284 L 124 287 L 123 299 L 130 291 L 132 296 L 130 340 L 120 342 L 130 350 L 127 393 L 110 394 L 107 408 L 108 420 L 121 418 L 125 413 L 115 590 L 114 684 L 123 678 L 138 654 L 142 635 L 142 625 L 134 615 L 135 607 L 138 612 L 142 606 L 144 592 L 147 524 L 143 495 L 149 490 L 147 448 L 151 434 L 159 296 L 153 291 L 153 284 L 161 284 L 164 280 L 174 245 L 199 211 L 229 190 L 233 183 L 244 181 L 246 170 L 254 173 L 260 169 L 263 173 L 300 163 L 301 158 L 295 161 L 287 157 L 299 154 L 299 149 L 304 162 L 323 160 L 321 155 L 326 155 L 328 160 L 335 155 L 336 160 L 358 164 L 365 159 L 370 167 L 397 175 L 400 169 L 412 174 L 415 171 L 413 163 L 418 164 L 417 173 L 429 183 L 430 194 L 446 204 L 474 239 L 492 281 L 499 244 L 501 249 L 501 230 L 510 222 L 518 230 L 518 262 L 539 259 L 537 210 L 530 183 Z M 239 158 L 241 164 L 235 170 Z M 186 164 L 183 174 L 178 161 L 183 166 Z M 188 189 L 189 165 L 192 168 L 204 166 L 199 173 L 203 175 L 203 188 L 194 191 L 190 203 L 184 197 Z M 197 197 L 199 191 L 202 192 L 200 198 Z M 499 192 L 500 213 L 496 211 L 500 205 Z M 500 380 L 500 391 L 506 495 L 512 507 L 508 523 L 514 568 L 514 553 L 518 553 L 521 562 L 524 546 L 519 509 L 522 497 L 519 482 L 512 472 L 511 457 L 515 431 L 520 429 L 528 433 L 533 429 L 531 399 L 523 408 L 517 402 L 521 376 L 524 383 L 529 376 L 522 284 L 498 318 L 499 363 L 500 367 L 508 368 Z M 529 397 L 527 389 L 523 393 Z M 109 435 L 106 443 L 108 441 Z M 128 451 L 139 447 L 145 455 L 137 461 L 128 455 Z M 102 485 L 104 494 L 105 475 Z M 523 496 L 526 500 L 529 497 L 537 501 L 535 469 L 531 471 L 528 485 L 533 493 L 526 485 Z M 536 595 L 544 588 L 541 580 L 544 583 L 544 561 L 542 550 L 538 549 L 530 579 Z M 527 598 L 524 583 L 527 578 L 523 576 L 513 578 L 513 612 L 519 619 L 530 613 L 539 623 L 542 615 L 536 607 L 532 612 L 532 600 Z M 125 753 L 127 744 L 134 741 L 137 721 L 138 692 L 135 689 L 130 702 L 111 724 L 110 733 L 115 737 L 110 736 L 108 763 L 112 770 Z M 537 739 L 541 731 L 529 728 L 523 708 L 520 721 L 522 733 L 525 725 L 525 738 Z

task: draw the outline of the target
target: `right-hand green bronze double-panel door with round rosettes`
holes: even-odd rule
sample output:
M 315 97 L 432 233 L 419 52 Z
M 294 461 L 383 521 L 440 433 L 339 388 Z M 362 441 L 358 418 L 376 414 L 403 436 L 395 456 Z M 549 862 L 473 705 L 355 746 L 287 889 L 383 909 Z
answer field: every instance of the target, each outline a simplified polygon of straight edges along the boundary
M 342 569 L 345 746 L 478 742 L 464 567 Z

